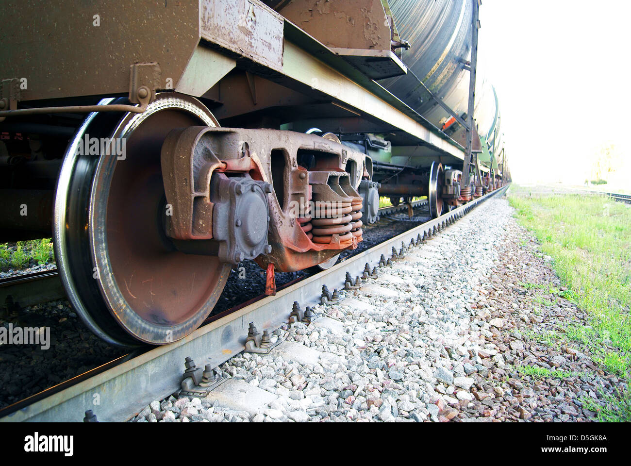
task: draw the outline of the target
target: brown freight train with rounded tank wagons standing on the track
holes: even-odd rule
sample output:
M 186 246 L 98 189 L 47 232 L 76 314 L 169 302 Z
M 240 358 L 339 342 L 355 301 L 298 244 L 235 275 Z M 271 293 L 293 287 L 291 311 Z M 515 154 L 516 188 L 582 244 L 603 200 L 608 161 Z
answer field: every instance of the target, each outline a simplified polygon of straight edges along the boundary
M 497 188 L 477 2 L 5 0 L 0 241 L 52 234 L 86 326 L 161 345 L 241 261 L 271 293 L 333 265 L 380 196 L 438 217 Z

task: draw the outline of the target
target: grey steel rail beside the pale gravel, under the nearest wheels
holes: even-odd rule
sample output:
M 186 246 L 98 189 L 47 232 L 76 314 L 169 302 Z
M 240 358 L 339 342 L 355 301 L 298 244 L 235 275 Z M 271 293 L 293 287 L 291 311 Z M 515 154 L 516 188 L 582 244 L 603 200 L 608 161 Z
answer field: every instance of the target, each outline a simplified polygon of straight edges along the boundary
M 387 241 L 381 242 L 322 272 L 279 289 L 276 296 L 261 296 L 211 316 L 203 326 L 182 340 L 169 345 L 131 352 L 91 369 L 73 379 L 0 410 L 0 421 L 81 421 L 91 409 L 100 421 L 128 419 L 148 399 L 161 399 L 177 391 L 182 380 L 184 360 L 192 357 L 199 366 L 219 366 L 244 350 L 250 323 L 269 330 L 288 323 L 294 301 L 301 309 L 319 301 L 322 285 L 331 290 L 344 286 L 346 274 L 362 275 L 365 265 L 379 268 L 382 256 L 393 250 L 404 251 L 411 242 L 422 241 L 446 227 L 490 196 L 504 193 L 497 189 L 449 213 L 429 220 Z M 418 201 L 420 206 L 424 201 Z M 407 206 L 387 207 L 386 215 L 406 210 Z M 399 209 L 398 211 L 396 209 Z M 315 316 L 317 318 L 317 316 Z M 142 374 L 141 376 L 139 374 Z M 99 404 L 95 405 L 95 394 Z

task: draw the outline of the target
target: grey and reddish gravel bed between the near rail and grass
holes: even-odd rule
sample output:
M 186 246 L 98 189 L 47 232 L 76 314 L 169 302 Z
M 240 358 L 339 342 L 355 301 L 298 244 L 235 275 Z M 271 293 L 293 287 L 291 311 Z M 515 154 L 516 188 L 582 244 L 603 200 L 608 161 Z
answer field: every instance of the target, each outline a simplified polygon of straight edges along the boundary
M 206 398 L 152 402 L 138 422 L 587 421 L 582 397 L 622 383 L 546 332 L 586 316 L 562 297 L 549 258 L 494 197 L 382 268 L 319 318 L 274 332 L 269 355 L 239 354 Z M 522 286 L 524 285 L 524 286 Z M 562 376 L 524 376 L 517 366 Z M 560 371 L 563 371 L 562 373 Z M 235 393 L 247 393 L 247 402 Z

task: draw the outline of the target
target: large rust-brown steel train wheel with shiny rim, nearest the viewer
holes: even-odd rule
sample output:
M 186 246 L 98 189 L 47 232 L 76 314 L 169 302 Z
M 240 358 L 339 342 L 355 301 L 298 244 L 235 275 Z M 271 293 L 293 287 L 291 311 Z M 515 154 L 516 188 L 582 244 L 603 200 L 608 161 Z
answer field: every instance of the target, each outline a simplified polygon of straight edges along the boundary
M 110 344 L 185 337 L 227 281 L 230 265 L 180 253 L 164 233 L 162 143 L 172 129 L 195 125 L 218 123 L 198 100 L 163 93 L 142 114 L 90 114 L 66 153 L 55 206 L 58 266 L 75 309 Z M 75 155 L 85 134 L 123 138 L 124 158 Z

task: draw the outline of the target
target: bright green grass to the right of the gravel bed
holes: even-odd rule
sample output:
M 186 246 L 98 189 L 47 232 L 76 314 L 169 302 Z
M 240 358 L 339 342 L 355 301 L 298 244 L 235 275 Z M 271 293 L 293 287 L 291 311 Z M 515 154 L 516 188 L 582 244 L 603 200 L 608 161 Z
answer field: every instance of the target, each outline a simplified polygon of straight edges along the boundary
M 604 370 L 628 379 L 631 374 L 631 208 L 604 196 L 537 195 L 513 186 L 508 193 L 517 220 L 534 232 L 541 252 L 567 291 L 540 288 L 575 302 L 589 316 L 589 326 L 570 325 L 565 338 L 594 354 Z M 528 286 L 527 286 L 528 285 Z M 548 304 L 547 299 L 540 299 Z M 616 398 L 618 407 L 625 403 Z M 608 403 L 614 403 L 608 398 Z M 629 421 L 629 410 L 608 407 Z M 604 412 L 604 411 L 603 411 Z M 626 413 L 626 414 L 625 414 Z M 624 414 L 624 415 L 623 415 Z M 604 419 L 604 418 L 603 418 Z

